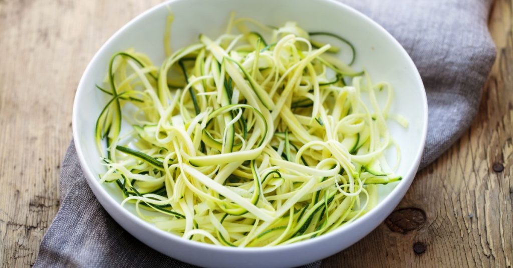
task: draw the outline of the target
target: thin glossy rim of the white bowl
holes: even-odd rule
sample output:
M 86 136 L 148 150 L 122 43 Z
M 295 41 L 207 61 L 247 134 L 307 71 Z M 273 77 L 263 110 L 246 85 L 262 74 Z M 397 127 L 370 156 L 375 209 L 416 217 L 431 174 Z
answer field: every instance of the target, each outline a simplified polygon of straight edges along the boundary
M 96 197 L 96 193 L 100 193 L 102 195 L 102 197 L 104 197 L 105 202 L 108 202 L 109 205 L 111 205 L 112 207 L 115 207 L 118 213 L 122 213 L 125 217 L 128 217 L 133 223 L 135 223 L 142 230 L 144 230 L 144 232 L 151 232 L 154 235 L 159 235 L 159 236 L 163 237 L 164 239 L 173 240 L 176 243 L 189 244 L 191 246 L 197 246 L 204 250 L 220 251 L 220 252 L 225 252 L 225 253 L 244 252 L 244 253 L 260 253 L 261 254 L 261 253 L 266 253 L 266 252 L 288 251 L 288 250 L 292 250 L 292 249 L 296 249 L 296 248 L 299 249 L 299 248 L 302 248 L 305 246 L 322 243 L 323 241 L 329 240 L 332 237 L 337 236 L 339 233 L 344 232 L 345 229 L 350 228 L 350 226 L 355 226 L 355 225 L 358 225 L 362 222 L 369 220 L 370 218 L 375 218 L 381 209 L 385 208 L 390 202 L 392 202 L 392 199 L 394 197 L 396 197 L 397 195 L 400 195 L 402 192 L 404 192 L 404 194 L 406 193 L 411 182 L 413 181 L 413 178 L 415 177 L 415 174 L 418 171 L 418 167 L 419 167 L 419 164 L 420 164 L 420 161 L 422 158 L 422 154 L 423 154 L 425 142 L 426 142 L 426 136 L 427 136 L 428 104 L 427 104 L 426 91 L 425 91 L 424 84 L 422 82 L 420 73 L 419 73 L 415 63 L 413 63 L 413 60 L 411 59 L 409 54 L 406 52 L 406 50 L 403 48 L 403 46 L 401 46 L 401 44 L 398 42 L 398 40 L 396 40 L 396 38 L 394 38 L 381 25 L 374 22 L 374 20 L 372 20 L 368 16 L 364 15 L 360 11 L 358 11 L 344 3 L 337 2 L 336 0 L 317 0 L 319 2 L 325 2 L 325 4 L 336 5 L 336 6 L 338 6 L 337 8 L 345 9 L 345 11 L 353 13 L 353 15 L 356 15 L 357 17 L 359 17 L 359 19 L 366 20 L 367 23 L 370 23 L 371 27 L 377 28 L 378 30 L 383 32 L 385 34 L 386 38 L 388 38 L 389 41 L 391 41 L 392 44 L 394 44 L 394 47 L 396 47 L 395 49 L 398 49 L 404 56 L 406 56 L 406 61 L 407 61 L 407 64 L 409 65 L 408 67 L 413 70 L 413 73 L 414 73 L 415 78 L 418 83 L 417 86 L 418 86 L 419 90 L 421 91 L 420 95 L 421 95 L 422 112 L 423 112 L 422 114 L 423 114 L 424 123 L 422 125 L 422 130 L 421 130 L 422 131 L 421 146 L 419 147 L 418 151 L 416 152 L 415 159 L 412 161 L 410 168 L 408 169 L 406 174 L 403 175 L 403 180 L 399 181 L 398 184 L 396 185 L 396 187 L 394 187 L 394 189 L 392 189 L 392 191 L 375 208 L 373 208 L 371 211 L 369 211 L 365 215 L 359 217 L 358 219 L 350 222 L 349 224 L 340 226 L 336 230 L 333 230 L 329 233 L 323 234 L 318 237 L 306 239 L 306 240 L 299 241 L 299 242 L 294 242 L 291 244 L 274 245 L 274 246 L 269 246 L 269 247 L 258 247 L 258 248 L 238 248 L 238 247 L 236 247 L 236 248 L 233 248 L 233 247 L 229 247 L 229 246 L 221 246 L 221 245 L 208 244 L 208 243 L 204 243 L 204 242 L 183 239 L 180 236 L 177 236 L 177 235 L 174 235 L 169 232 L 166 232 L 166 231 L 156 228 L 156 226 L 152 225 L 149 222 L 144 221 L 140 217 L 137 217 L 136 215 L 129 212 L 127 209 L 123 208 L 119 202 L 117 202 L 111 195 L 109 195 L 105 191 L 105 189 L 98 182 L 98 180 L 96 180 L 96 176 L 92 173 L 92 170 L 88 167 L 87 160 L 82 151 L 80 142 L 78 142 L 78 141 L 80 141 L 80 135 L 78 134 L 78 130 L 77 130 L 77 126 L 78 126 L 78 122 L 79 122 L 77 107 L 79 106 L 78 103 L 80 102 L 80 99 L 78 97 L 80 94 L 78 94 L 78 93 L 85 90 L 86 76 L 90 72 L 90 70 L 93 68 L 93 63 L 100 56 L 101 52 L 103 50 L 105 50 L 117 36 L 119 36 L 126 29 L 130 28 L 131 25 L 135 24 L 138 20 L 149 15 L 150 13 L 153 13 L 154 11 L 161 9 L 164 6 L 170 5 L 174 2 L 181 2 L 181 1 L 185 1 L 185 0 L 168 0 L 166 2 L 156 5 L 152 8 L 144 11 L 143 13 L 137 15 L 136 17 L 132 18 L 128 23 L 126 23 L 123 27 L 121 27 L 119 30 L 117 30 L 111 37 L 109 37 L 106 40 L 106 42 L 100 47 L 100 49 L 98 49 L 95 52 L 94 56 L 91 58 L 86 69 L 84 70 L 84 73 L 82 74 L 80 82 L 78 83 L 77 90 L 75 92 L 74 101 L 73 101 L 73 111 L 72 111 L 73 141 L 74 141 L 76 153 L 77 153 L 78 159 L 80 161 L 82 171 L 84 172 L 84 175 L 86 177 L 89 187 L 91 188 L 91 190 L 93 190 L 92 192 L 95 195 L 95 198 L 98 199 L 98 201 L 100 201 L 100 200 L 98 197 Z M 94 190 L 96 190 L 96 191 L 94 191 Z M 404 194 L 401 197 L 401 199 L 404 197 Z M 104 207 L 103 203 L 102 202 L 100 202 L 100 203 L 102 204 L 102 207 Z M 108 213 L 110 216 L 110 212 L 108 212 Z M 125 229 L 123 226 L 122 226 L 122 228 Z M 373 229 L 375 229 L 375 228 L 373 228 Z M 143 242 L 143 241 L 141 241 L 141 242 Z M 145 242 L 143 242 L 143 243 L 145 243 Z M 150 245 L 150 247 L 152 248 L 151 245 Z

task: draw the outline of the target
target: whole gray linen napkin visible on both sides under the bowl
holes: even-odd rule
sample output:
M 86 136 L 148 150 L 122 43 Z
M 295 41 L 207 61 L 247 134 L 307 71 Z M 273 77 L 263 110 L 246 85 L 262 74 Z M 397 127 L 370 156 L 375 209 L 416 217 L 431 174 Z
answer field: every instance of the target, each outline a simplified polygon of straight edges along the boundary
M 383 25 L 419 68 L 429 106 L 423 168 L 468 129 L 479 108 L 496 53 L 487 30 L 491 0 L 342 2 Z M 60 179 L 61 208 L 34 267 L 191 267 L 150 249 L 114 222 L 89 189 L 73 142 Z

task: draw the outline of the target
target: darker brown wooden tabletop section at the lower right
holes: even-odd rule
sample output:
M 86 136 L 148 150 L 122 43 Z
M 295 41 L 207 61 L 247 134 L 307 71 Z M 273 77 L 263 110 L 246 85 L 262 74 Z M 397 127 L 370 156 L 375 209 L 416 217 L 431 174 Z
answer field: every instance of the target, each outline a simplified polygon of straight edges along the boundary
M 511 5 L 511 0 L 497 0 L 490 16 L 498 57 L 472 127 L 417 175 L 398 206 L 423 210 L 426 222 L 407 234 L 382 223 L 360 242 L 326 259 L 323 267 L 511 267 Z

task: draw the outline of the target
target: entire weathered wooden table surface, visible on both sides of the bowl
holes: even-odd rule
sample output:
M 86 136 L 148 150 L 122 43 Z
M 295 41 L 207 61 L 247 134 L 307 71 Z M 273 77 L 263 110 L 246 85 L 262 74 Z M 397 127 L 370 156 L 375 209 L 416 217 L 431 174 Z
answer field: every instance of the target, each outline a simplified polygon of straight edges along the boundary
M 0 263 L 28 266 L 59 207 L 78 80 L 151 1 L 0 0 Z M 472 127 L 417 175 L 398 211 L 323 266 L 488 266 L 513 261 L 512 1 L 489 27 L 498 58 Z

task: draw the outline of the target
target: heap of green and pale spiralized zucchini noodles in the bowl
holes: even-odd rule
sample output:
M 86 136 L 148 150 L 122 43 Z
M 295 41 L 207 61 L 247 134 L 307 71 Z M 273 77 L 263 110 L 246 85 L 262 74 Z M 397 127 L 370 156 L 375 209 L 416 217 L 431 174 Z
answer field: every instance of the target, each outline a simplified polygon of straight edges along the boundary
M 289 244 L 362 216 L 377 184 L 401 180 L 384 157 L 396 147 L 399 162 L 386 120 L 408 122 L 389 114 L 389 83 L 351 67 L 347 39 L 232 15 L 225 34 L 173 52 L 172 21 L 160 67 L 122 51 L 97 86 L 110 97 L 95 128 L 100 181 L 141 218 L 206 243 Z

